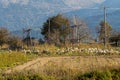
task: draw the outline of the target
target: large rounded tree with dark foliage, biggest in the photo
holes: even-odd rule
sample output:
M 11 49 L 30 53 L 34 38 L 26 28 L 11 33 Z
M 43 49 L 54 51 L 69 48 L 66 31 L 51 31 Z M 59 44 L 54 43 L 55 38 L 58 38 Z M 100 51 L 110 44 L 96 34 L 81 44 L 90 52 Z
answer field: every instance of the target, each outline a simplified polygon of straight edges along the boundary
M 69 35 L 69 20 L 61 14 L 49 18 L 43 25 L 42 35 L 48 42 L 65 42 Z

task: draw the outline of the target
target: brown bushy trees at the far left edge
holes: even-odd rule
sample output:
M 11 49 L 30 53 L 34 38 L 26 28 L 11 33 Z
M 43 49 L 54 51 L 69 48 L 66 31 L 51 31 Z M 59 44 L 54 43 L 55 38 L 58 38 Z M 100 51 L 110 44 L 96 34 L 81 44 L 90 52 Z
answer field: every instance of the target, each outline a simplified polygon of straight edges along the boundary
M 19 49 L 22 47 L 22 38 L 13 36 L 10 34 L 9 30 L 1 27 L 0 28 L 0 46 L 2 48 L 3 44 L 7 44 L 10 49 Z

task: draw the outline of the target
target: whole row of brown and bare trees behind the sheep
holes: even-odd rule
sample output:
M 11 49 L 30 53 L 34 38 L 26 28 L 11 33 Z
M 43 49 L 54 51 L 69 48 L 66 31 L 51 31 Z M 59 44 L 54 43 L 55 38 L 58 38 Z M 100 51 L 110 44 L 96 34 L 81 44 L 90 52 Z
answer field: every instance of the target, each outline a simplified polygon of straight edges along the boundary
M 96 27 L 96 32 L 97 39 L 91 36 L 91 29 L 87 26 L 85 21 L 81 20 L 79 17 L 69 19 L 62 14 L 58 14 L 48 18 L 46 22 L 44 22 L 41 30 L 41 34 L 44 38 L 39 41 L 42 43 L 60 45 L 83 42 L 104 43 L 106 39 L 107 44 L 120 46 L 120 32 L 119 30 L 114 30 L 110 23 L 101 21 L 99 26 Z M 0 27 L 1 47 L 4 44 L 8 44 L 9 47 L 13 49 L 22 48 L 23 44 L 26 44 L 24 40 L 25 39 L 19 36 L 11 35 L 8 29 Z M 28 41 L 27 39 L 28 42 L 30 42 L 30 40 Z

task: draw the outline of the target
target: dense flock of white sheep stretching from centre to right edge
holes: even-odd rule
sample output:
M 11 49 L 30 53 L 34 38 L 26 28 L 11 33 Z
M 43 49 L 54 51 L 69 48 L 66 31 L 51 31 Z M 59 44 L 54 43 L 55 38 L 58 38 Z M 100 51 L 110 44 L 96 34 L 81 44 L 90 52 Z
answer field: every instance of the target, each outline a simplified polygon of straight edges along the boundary
M 63 48 L 58 49 L 56 53 L 68 53 L 68 52 L 78 52 L 78 53 L 87 53 L 87 54 L 120 54 L 119 51 L 113 49 L 101 49 L 101 48 L 78 48 L 78 47 L 70 47 L 70 48 Z

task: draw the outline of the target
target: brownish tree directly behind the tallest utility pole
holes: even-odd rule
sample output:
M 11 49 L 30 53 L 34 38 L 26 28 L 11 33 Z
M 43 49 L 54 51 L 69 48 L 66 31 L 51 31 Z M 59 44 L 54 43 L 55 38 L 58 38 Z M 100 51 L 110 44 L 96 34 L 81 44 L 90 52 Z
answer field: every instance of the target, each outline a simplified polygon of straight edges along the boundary
M 98 29 L 99 41 L 105 43 L 105 39 L 106 39 L 106 43 L 108 43 L 111 35 L 111 31 L 112 31 L 112 26 L 108 22 L 101 21 L 100 27 Z

